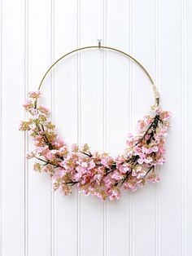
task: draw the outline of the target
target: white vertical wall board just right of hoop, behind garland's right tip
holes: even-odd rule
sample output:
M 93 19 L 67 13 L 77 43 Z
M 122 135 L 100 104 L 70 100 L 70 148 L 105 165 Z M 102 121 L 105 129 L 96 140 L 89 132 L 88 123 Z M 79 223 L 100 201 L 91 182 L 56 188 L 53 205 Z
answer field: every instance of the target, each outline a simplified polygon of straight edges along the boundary
M 159 183 L 159 254 L 182 254 L 182 2 L 159 2 L 159 78 L 162 105 L 172 111 L 167 163 Z

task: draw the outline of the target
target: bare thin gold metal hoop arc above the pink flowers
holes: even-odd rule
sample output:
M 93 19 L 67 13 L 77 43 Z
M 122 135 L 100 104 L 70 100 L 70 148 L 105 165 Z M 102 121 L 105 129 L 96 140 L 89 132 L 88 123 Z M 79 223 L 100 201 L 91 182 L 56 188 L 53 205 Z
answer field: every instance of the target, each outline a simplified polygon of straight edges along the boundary
M 111 51 L 117 51 L 122 55 L 125 55 L 127 57 L 129 57 L 129 59 L 133 60 L 140 68 L 142 68 L 143 72 L 146 73 L 146 76 L 149 78 L 151 85 L 152 85 L 152 89 L 154 91 L 154 95 L 155 95 L 155 102 L 157 105 L 159 105 L 159 91 L 157 90 L 157 87 L 155 86 L 155 82 L 153 81 L 151 75 L 147 72 L 146 68 L 144 68 L 144 66 L 138 61 L 136 60 L 132 55 L 129 55 L 128 53 L 124 52 L 124 51 L 120 51 L 116 48 L 113 47 L 109 47 L 109 46 L 101 46 L 101 43 L 98 42 L 98 46 L 85 46 L 85 47 L 81 47 L 81 48 L 77 48 L 76 50 L 73 51 L 69 51 L 68 53 L 66 53 L 65 55 L 61 56 L 58 60 L 56 60 L 51 66 L 50 68 L 47 69 L 46 73 L 44 74 L 44 76 L 41 79 L 41 82 L 38 86 L 38 90 L 41 90 L 41 85 L 44 82 L 47 74 L 50 72 L 50 70 L 55 66 L 55 64 L 59 63 L 60 60 L 63 60 L 65 57 L 67 57 L 68 55 L 71 55 L 72 53 L 76 52 L 76 51 L 82 51 L 85 49 L 92 49 L 92 48 L 99 48 L 99 49 L 108 49 Z M 37 104 L 37 101 L 36 101 Z

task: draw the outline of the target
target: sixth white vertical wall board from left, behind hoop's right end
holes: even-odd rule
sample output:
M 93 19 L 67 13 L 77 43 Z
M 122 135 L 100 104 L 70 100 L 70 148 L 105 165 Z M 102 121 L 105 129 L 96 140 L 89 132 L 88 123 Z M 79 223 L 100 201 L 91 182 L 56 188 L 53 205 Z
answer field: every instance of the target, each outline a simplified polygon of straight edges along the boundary
M 146 67 L 155 81 L 156 64 L 156 2 L 133 1 L 133 55 Z M 146 74 L 133 65 L 133 130 L 137 120 L 151 110 L 155 97 Z M 137 131 L 136 131 L 137 132 Z M 133 193 L 133 255 L 156 253 L 156 190 L 146 186 Z M 146 235 L 147 234 L 147 235 Z M 149 240 L 150 239 L 150 240 Z M 139 246 L 138 246 L 139 245 Z

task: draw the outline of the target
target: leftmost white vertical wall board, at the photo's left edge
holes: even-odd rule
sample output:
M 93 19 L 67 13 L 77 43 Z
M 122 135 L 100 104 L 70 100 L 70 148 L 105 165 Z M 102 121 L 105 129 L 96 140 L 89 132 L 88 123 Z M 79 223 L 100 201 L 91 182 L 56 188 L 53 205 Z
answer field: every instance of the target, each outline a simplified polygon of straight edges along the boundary
M 23 256 L 24 1 L 2 1 L 2 10 L 2 255 Z

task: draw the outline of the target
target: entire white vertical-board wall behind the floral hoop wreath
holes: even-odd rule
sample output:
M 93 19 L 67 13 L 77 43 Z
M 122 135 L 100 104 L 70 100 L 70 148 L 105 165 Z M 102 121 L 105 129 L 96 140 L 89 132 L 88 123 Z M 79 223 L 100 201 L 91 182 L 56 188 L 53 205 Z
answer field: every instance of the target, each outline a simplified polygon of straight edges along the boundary
M 192 2 L 190 0 L 1 1 L 1 255 L 191 256 Z M 142 62 L 172 111 L 167 162 L 158 185 L 102 202 L 50 191 L 24 153 L 18 131 L 28 90 L 77 46 L 102 43 Z M 59 134 L 116 156 L 153 104 L 142 71 L 113 52 L 84 51 L 55 68 L 43 85 Z

